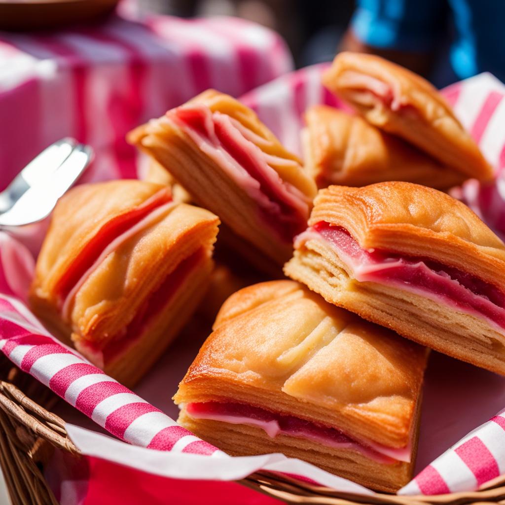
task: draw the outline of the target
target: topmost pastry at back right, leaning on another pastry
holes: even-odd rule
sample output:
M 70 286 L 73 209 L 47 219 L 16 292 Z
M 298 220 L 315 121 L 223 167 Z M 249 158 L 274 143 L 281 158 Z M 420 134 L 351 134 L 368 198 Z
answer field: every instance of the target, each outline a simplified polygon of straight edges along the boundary
M 477 144 L 425 79 L 378 56 L 339 53 L 323 84 L 365 119 L 467 178 L 492 178 Z

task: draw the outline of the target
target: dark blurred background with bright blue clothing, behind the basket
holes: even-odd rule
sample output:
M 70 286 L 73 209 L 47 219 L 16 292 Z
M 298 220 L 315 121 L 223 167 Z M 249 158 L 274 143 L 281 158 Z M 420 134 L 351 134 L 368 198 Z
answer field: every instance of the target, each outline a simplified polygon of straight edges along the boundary
M 237 16 L 287 41 L 296 66 L 371 52 L 443 87 L 488 71 L 505 81 L 503 0 L 138 0 L 143 11 Z

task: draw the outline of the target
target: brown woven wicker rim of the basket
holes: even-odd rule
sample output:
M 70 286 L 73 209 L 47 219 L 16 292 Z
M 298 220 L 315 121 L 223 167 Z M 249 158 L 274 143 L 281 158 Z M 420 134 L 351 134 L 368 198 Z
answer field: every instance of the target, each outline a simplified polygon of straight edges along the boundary
M 13 368 L 16 369 L 16 367 Z M 31 378 L 31 380 L 36 382 L 36 379 Z M 38 382 L 37 385 L 44 387 Z M 65 421 L 29 398 L 9 379 L 0 380 L 0 409 L 53 447 L 77 457 L 81 456 L 79 449 L 68 437 Z M 265 471 L 255 472 L 237 482 L 289 503 L 423 505 L 426 503 L 463 504 L 505 500 L 505 475 L 486 482 L 477 491 L 411 496 L 381 492 L 376 492 L 374 495 L 340 492 L 299 481 L 284 474 Z

